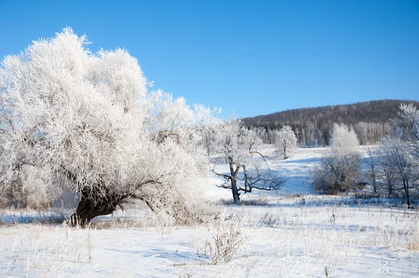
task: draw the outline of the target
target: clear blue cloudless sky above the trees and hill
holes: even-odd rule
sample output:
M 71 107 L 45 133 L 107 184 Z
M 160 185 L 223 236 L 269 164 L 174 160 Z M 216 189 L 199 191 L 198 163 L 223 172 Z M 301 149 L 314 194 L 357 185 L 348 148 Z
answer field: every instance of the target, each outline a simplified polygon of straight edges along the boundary
M 188 103 L 237 117 L 419 100 L 419 1 L 3 1 L 0 57 L 73 27 Z

